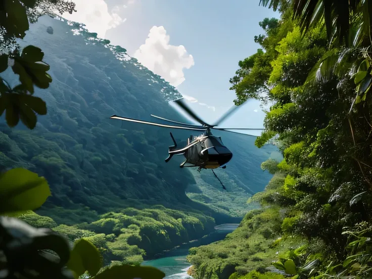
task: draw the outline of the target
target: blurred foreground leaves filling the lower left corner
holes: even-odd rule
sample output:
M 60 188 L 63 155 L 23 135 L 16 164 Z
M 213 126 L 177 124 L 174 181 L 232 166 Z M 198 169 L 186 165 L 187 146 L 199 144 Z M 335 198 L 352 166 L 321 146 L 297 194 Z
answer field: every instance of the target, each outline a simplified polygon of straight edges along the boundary
M 49 185 L 43 177 L 40 178 L 37 174 L 21 168 L 3 173 L 0 177 L 0 184 L 4 192 L 2 197 L 7 198 L 2 204 L 2 213 L 8 215 L 19 215 L 17 213 L 19 210 L 30 211 L 39 207 L 46 199 L 45 193 L 50 194 Z M 42 186 L 39 187 L 39 185 Z M 41 198 L 38 198 L 37 194 Z M 29 215 L 31 217 L 27 218 Z M 37 225 L 43 223 L 42 219 L 45 220 L 45 217 L 38 216 L 32 211 L 20 216 Z M 36 216 L 40 218 L 36 219 Z M 47 221 L 50 227 L 58 231 L 53 220 L 49 218 Z M 77 279 L 86 271 L 91 278 L 95 278 L 98 272 L 100 272 L 98 277 L 105 278 L 119 277 L 118 272 L 130 274 L 132 277 L 150 278 L 150 274 L 155 278 L 165 276 L 156 268 L 128 264 L 101 270 L 102 256 L 89 240 L 78 239 L 73 249 L 70 250 L 67 239 L 61 235 L 50 229 L 35 228 L 17 218 L 0 216 L 0 235 L 2 237 L 0 251 L 5 256 L 2 257 L 1 264 L 8 268 L 9 276 L 15 278 L 19 277 L 18 274 L 22 274 L 22 278 L 56 276 Z M 90 237 L 93 242 L 100 243 L 98 238 L 99 236 Z

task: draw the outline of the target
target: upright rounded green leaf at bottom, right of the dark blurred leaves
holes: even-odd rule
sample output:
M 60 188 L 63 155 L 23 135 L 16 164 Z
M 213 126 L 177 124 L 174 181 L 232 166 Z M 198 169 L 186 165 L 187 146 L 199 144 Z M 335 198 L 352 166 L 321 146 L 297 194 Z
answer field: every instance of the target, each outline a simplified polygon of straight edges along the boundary
M 75 276 L 82 275 L 88 271 L 91 276 L 95 276 L 101 269 L 102 260 L 97 248 L 85 239 L 75 242 L 71 251 L 70 260 L 67 267 L 75 272 Z

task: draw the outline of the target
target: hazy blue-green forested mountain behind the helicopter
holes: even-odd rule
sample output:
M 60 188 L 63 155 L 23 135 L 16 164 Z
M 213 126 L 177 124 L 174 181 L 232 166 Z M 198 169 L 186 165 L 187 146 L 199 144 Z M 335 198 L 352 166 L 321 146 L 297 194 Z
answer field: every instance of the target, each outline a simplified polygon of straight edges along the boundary
M 185 121 L 168 104 L 180 93 L 125 49 L 96 36 L 81 24 L 44 16 L 20 41 L 42 49 L 53 78 L 48 89 L 35 90 L 48 108 L 35 129 L 11 129 L 4 117 L 0 123 L 1 169 L 28 168 L 52 190 L 38 215 L 23 218 L 70 239 L 103 238 L 108 259 L 132 261 L 200 238 L 215 222 L 240 220 L 247 198 L 271 178 L 260 164 L 276 148 L 257 149 L 253 136 L 216 133 L 234 153 L 227 168 L 216 171 L 226 195 L 219 194 L 213 173 L 180 169 L 178 156 L 165 163 L 172 145 L 168 129 L 109 117 L 153 121 L 155 114 Z M 9 69 L 2 76 L 17 84 Z M 178 142 L 190 135 L 172 133 Z

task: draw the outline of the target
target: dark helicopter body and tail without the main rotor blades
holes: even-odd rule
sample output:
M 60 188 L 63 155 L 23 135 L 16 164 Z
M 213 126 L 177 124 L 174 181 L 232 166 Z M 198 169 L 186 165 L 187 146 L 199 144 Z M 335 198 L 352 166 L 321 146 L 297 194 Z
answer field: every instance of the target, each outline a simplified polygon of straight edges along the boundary
M 215 169 L 225 167 L 232 158 L 232 153 L 226 148 L 221 137 L 212 135 L 210 130 L 206 130 L 198 136 L 190 136 L 188 145 L 177 149 L 172 133 L 170 133 L 174 146 L 169 147 L 169 156 L 165 160 L 168 162 L 173 155 L 183 155 L 186 160 L 180 167 L 199 167 L 199 169 Z

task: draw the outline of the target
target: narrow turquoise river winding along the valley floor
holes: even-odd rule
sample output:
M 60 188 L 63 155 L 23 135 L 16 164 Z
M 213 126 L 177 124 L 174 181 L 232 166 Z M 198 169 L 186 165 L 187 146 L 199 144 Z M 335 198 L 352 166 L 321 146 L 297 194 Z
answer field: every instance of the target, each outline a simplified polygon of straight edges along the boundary
M 159 268 L 165 273 L 164 279 L 189 279 L 187 270 L 190 263 L 186 260 L 191 247 L 198 247 L 216 242 L 225 238 L 229 232 L 235 230 L 239 224 L 221 224 L 215 226 L 215 231 L 203 237 L 202 239 L 193 241 L 169 251 L 163 257 L 155 260 L 144 261 L 142 265 L 150 265 Z

